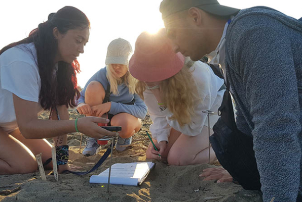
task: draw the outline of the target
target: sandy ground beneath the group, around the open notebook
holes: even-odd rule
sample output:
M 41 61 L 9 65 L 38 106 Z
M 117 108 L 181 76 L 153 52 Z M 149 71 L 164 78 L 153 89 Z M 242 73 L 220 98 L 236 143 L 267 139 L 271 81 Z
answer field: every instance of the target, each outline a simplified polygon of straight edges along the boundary
M 79 117 L 73 109 L 69 112 L 71 119 Z M 47 116 L 47 113 L 44 113 L 41 118 Z M 144 151 L 149 140 L 144 131 L 148 131 L 150 123 L 151 120 L 147 116 L 143 121 L 142 130 L 135 134 L 132 145 L 122 153 L 114 150 L 112 163 L 146 161 Z M 85 147 L 85 137 L 84 135 L 81 151 Z M 68 135 L 70 164 L 81 166 L 83 171 L 87 171 L 93 167 L 91 163 L 96 163 L 100 159 L 108 145 L 103 146 L 98 155 L 84 157 L 79 150 L 80 139 L 80 133 Z M 140 186 L 110 185 L 109 193 L 107 184 L 89 183 L 91 175 L 97 175 L 108 168 L 109 158 L 90 174 L 84 176 L 60 174 L 58 182 L 54 180 L 53 175 L 49 175 L 50 171 L 46 171 L 47 181 L 42 181 L 39 171 L 22 175 L 2 175 L 0 192 L 17 187 L 20 189 L 9 195 L 0 195 L 0 201 L 262 201 L 259 191 L 244 190 L 234 183 L 202 181 L 199 177 L 201 171 L 215 165 L 169 166 L 158 161 L 155 163 L 155 168 Z

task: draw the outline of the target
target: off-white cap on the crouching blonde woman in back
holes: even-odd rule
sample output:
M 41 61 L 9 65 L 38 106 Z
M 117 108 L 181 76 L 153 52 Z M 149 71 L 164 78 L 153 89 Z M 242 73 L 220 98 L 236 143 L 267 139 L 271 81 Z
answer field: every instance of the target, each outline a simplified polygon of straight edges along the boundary
M 108 45 L 105 64 L 129 65 L 129 56 L 132 53 L 132 47 L 129 41 L 117 38 Z

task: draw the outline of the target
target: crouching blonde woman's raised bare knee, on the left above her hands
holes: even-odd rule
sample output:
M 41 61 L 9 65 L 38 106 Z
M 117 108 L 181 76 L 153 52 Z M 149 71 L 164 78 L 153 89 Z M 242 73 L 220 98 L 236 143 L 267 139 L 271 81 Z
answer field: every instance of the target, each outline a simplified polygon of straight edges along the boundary
M 100 82 L 91 81 L 85 91 L 85 103 L 90 107 L 100 105 L 103 103 L 105 93 L 105 89 Z M 95 116 L 95 113 L 87 116 Z

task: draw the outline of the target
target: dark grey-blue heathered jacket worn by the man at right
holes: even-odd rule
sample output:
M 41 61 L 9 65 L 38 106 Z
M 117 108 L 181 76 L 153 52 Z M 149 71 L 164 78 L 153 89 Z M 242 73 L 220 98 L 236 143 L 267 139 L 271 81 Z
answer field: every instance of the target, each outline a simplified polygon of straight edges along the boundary
M 302 193 L 302 22 L 245 9 L 226 36 L 237 125 L 253 136 L 263 201 L 296 201 Z

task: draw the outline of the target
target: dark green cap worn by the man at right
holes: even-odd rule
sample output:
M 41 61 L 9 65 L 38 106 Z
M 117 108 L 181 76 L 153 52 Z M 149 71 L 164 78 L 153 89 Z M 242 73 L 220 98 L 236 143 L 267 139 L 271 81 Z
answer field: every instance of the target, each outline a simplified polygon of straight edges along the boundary
M 162 18 L 165 19 L 174 13 L 192 7 L 222 17 L 236 15 L 240 11 L 240 9 L 222 6 L 217 0 L 164 0 L 161 3 L 160 12 L 162 13 Z

